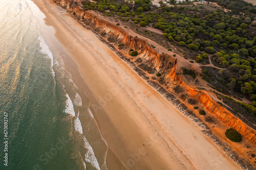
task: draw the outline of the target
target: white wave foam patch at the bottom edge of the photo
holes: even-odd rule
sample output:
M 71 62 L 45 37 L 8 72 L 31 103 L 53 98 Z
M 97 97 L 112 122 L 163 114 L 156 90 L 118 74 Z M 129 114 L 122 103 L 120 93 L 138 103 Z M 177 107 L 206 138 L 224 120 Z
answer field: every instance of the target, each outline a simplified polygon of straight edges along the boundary
M 89 144 L 89 142 L 87 141 L 87 139 L 84 136 L 83 136 L 83 140 L 84 140 L 84 147 L 88 149 L 88 151 L 85 155 L 86 156 L 85 161 L 90 162 L 93 165 L 93 167 L 100 170 L 99 163 L 97 161 L 97 158 L 94 155 L 91 145 Z

